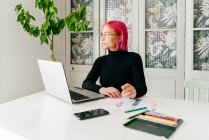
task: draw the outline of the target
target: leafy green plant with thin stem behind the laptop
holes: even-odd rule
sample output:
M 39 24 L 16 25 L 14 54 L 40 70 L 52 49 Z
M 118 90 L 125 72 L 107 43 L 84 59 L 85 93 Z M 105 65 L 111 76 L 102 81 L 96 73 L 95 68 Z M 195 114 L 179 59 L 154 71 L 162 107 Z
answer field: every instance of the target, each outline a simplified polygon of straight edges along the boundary
M 67 26 L 68 31 L 79 32 L 87 30 L 89 22 L 85 20 L 86 8 L 81 7 L 62 19 L 56 16 L 58 10 L 53 0 L 36 0 L 35 8 L 42 10 L 44 13 L 45 21 L 40 27 L 31 24 L 31 21 L 35 21 L 35 18 L 29 11 L 23 9 L 22 4 L 18 4 L 15 7 L 17 22 L 19 22 L 23 26 L 23 29 L 31 36 L 40 37 L 41 44 L 49 44 L 51 59 L 56 61 L 53 36 L 59 35 L 65 26 Z

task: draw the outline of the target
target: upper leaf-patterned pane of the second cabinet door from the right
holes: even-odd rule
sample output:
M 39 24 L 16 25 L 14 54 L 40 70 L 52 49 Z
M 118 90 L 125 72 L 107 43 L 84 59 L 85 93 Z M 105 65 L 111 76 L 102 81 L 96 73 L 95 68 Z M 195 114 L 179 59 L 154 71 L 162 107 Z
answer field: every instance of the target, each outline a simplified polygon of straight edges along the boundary
M 146 29 L 176 28 L 177 0 L 146 0 Z

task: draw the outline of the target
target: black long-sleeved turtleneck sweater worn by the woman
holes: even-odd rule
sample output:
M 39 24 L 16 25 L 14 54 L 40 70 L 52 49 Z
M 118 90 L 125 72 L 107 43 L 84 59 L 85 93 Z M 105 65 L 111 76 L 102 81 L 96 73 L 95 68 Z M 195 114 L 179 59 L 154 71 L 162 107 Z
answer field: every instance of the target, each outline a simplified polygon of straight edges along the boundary
M 99 77 L 101 86 L 96 84 Z M 82 87 L 98 93 L 101 87 L 115 87 L 121 92 L 121 86 L 126 83 L 135 87 L 136 98 L 146 94 L 140 55 L 127 51 L 109 51 L 108 55 L 96 59 Z

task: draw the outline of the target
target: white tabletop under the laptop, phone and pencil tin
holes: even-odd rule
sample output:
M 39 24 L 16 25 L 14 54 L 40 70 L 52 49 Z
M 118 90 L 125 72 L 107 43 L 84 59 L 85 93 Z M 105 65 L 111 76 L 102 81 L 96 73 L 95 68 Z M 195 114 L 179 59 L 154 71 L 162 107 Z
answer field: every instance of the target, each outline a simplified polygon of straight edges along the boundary
M 149 97 L 145 97 L 149 98 Z M 157 100 L 157 99 L 156 99 Z M 209 139 L 209 104 L 160 99 L 161 112 L 184 123 L 171 140 Z M 160 140 L 165 139 L 122 124 L 130 114 L 110 110 L 110 115 L 80 121 L 73 113 L 98 108 L 98 101 L 71 105 L 44 92 L 0 105 L 0 139 L 15 140 Z

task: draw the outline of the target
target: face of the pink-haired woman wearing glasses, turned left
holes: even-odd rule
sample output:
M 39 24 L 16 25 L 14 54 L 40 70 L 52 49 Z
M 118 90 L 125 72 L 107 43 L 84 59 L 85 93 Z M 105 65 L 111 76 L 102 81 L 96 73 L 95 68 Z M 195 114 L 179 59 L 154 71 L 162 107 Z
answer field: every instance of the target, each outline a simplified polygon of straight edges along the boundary
M 116 48 L 117 34 L 108 25 L 105 25 L 102 28 L 102 32 L 100 33 L 100 39 L 102 42 L 103 49 L 108 49 L 110 51 L 117 50 Z

